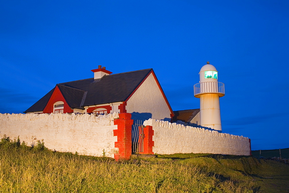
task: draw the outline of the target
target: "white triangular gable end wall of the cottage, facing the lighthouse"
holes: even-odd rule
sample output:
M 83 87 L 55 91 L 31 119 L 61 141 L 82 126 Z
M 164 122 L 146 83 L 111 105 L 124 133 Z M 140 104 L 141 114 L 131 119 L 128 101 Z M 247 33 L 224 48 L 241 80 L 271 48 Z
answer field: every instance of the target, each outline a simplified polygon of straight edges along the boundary
M 129 98 L 125 109 L 133 119 L 171 120 L 171 111 L 152 73 Z

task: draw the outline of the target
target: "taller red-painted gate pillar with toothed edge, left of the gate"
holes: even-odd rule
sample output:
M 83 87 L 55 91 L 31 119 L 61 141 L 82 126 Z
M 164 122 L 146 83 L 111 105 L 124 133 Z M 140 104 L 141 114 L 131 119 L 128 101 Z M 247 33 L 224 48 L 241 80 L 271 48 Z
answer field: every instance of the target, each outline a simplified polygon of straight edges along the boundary
M 131 156 L 131 125 L 134 120 L 131 119 L 130 113 L 120 113 L 118 116 L 119 119 L 114 119 L 114 125 L 117 125 L 117 129 L 113 130 L 113 135 L 117 136 L 114 147 L 118 148 L 114 159 L 116 161 L 129 160 Z

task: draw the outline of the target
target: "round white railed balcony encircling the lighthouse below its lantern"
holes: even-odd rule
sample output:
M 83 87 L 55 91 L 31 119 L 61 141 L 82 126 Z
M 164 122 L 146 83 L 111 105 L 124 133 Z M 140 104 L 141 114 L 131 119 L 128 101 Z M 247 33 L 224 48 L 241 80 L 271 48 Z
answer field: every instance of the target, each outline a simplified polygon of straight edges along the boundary
M 194 96 L 200 98 L 202 94 L 225 95 L 225 85 L 222 82 L 201 82 L 194 85 Z

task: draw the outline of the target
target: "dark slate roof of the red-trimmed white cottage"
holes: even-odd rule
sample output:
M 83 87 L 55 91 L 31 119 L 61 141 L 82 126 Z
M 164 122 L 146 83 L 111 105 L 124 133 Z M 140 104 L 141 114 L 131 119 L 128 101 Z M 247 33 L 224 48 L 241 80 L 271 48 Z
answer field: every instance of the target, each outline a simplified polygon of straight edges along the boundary
M 56 86 L 58 86 L 69 107 L 83 109 L 84 106 L 125 101 L 152 70 L 150 68 L 111 74 L 105 75 L 101 79 L 76 80 L 59 83 Z M 43 111 L 54 89 L 24 113 Z

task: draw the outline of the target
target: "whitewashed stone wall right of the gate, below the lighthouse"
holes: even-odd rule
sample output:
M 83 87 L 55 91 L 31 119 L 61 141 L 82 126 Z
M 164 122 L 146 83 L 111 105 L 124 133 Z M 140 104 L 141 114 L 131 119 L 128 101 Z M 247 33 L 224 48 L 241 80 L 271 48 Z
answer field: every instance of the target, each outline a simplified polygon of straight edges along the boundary
M 153 152 L 155 154 L 212 153 L 250 155 L 250 142 L 247 137 L 155 119 L 144 121 L 144 125 L 153 127 Z

